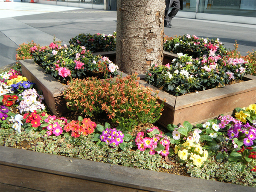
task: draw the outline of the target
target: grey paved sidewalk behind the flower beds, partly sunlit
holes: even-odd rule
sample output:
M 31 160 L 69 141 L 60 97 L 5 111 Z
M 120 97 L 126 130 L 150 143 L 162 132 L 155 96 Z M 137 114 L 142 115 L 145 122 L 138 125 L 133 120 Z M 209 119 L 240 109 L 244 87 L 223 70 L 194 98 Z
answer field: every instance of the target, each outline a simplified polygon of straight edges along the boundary
M 233 49 L 237 40 L 242 55 L 256 50 L 256 25 L 195 20 L 175 17 L 165 35 L 196 35 L 219 38 Z M 34 41 L 49 45 L 54 36 L 68 44 L 80 33 L 112 34 L 116 31 L 116 12 L 98 9 L 54 6 L 39 3 L 0 2 L 0 67 L 15 63 L 19 44 Z

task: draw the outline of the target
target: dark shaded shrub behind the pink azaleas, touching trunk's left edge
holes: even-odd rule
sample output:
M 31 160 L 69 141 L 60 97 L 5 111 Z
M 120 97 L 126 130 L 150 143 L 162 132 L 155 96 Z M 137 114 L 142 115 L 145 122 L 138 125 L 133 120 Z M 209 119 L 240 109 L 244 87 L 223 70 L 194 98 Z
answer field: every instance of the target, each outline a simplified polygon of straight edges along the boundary
M 100 33 L 91 35 L 90 33 L 82 33 L 74 38 L 71 38 L 69 43 L 73 44 L 74 46 L 85 46 L 86 49 L 90 50 L 91 52 L 115 51 L 116 32 L 114 32 L 112 35 L 105 35 Z

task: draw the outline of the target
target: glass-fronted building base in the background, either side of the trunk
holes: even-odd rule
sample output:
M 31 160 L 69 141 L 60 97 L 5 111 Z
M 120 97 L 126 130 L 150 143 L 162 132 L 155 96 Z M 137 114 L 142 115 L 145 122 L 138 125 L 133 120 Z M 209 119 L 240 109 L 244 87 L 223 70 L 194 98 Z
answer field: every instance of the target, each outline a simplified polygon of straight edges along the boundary
M 28 1 L 31 0 L 21 0 Z M 33 0 L 60 6 L 116 10 L 116 0 Z M 172 9 L 172 8 L 170 8 Z M 183 0 L 176 17 L 256 25 L 256 0 Z

